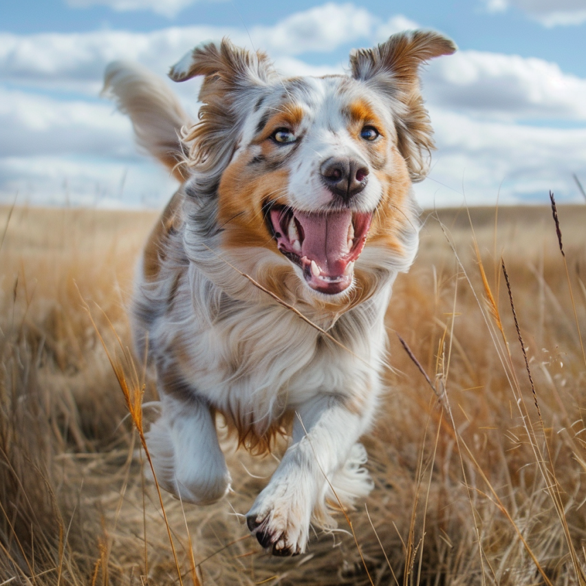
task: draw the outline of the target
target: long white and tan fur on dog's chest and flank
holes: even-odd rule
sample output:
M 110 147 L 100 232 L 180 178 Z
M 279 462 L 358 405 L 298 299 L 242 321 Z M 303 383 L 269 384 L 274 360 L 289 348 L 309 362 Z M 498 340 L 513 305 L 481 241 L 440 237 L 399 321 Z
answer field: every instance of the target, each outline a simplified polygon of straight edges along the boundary
M 172 217 L 164 217 L 151 235 L 135 290 L 135 330 L 149 332 L 148 339 L 138 340 L 139 351 L 148 345 L 159 376 L 172 376 L 169 387 L 178 393 L 204 396 L 241 435 L 256 439 L 270 435 L 275 422 L 318 393 L 347 398 L 360 408 L 379 386 L 384 309 L 394 273 L 376 294 L 342 314 L 297 304 L 310 325 L 262 290 L 255 291 L 259 303 L 254 297 L 238 299 L 237 291 L 236 298 L 228 296 L 214 282 L 235 281 L 250 297 L 250 281 L 228 264 L 234 259 L 206 243 L 213 235 L 205 215 L 191 227 L 191 254 L 195 241 L 199 250 L 197 261 L 190 262 L 184 221 L 189 206 L 182 191 L 175 195 Z M 191 211 L 193 224 L 198 215 Z

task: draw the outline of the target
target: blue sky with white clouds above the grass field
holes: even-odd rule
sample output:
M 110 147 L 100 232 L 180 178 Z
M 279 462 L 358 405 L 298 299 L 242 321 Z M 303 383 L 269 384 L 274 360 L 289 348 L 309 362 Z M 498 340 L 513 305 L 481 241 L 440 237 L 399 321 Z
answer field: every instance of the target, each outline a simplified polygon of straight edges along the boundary
M 586 203 L 586 0 L 0 0 L 0 204 L 154 207 L 176 183 L 105 97 L 110 61 L 166 76 L 202 41 L 262 49 L 285 76 L 347 71 L 400 30 L 450 36 L 422 69 L 428 207 Z M 197 116 L 199 80 L 169 87 Z

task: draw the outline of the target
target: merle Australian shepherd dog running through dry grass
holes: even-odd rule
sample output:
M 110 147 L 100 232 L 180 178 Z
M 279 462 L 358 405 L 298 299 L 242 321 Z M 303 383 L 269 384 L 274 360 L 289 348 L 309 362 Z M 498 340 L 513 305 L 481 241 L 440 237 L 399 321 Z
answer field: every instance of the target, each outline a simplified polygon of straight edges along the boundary
M 352 52 L 347 75 L 282 78 L 263 52 L 206 43 L 169 74 L 203 77 L 195 123 L 142 67 L 107 68 L 138 144 L 182 182 L 131 312 L 160 391 L 156 477 L 182 501 L 226 495 L 217 413 L 250 451 L 290 437 L 246 515 L 272 554 L 304 552 L 312 521 L 333 526 L 332 503 L 372 488 L 358 440 L 381 394 L 391 287 L 417 251 L 412 183 L 433 149 L 419 68 L 455 50 L 402 32 Z

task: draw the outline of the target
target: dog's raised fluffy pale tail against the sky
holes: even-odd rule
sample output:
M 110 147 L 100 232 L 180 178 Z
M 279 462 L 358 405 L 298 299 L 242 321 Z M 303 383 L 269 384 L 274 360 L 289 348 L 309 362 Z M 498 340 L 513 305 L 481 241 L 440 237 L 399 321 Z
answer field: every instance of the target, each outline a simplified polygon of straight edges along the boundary
M 180 131 L 193 121 L 163 81 L 138 63 L 113 61 L 106 67 L 102 93 L 130 117 L 138 145 L 184 182 L 188 171 L 180 164 L 186 154 Z

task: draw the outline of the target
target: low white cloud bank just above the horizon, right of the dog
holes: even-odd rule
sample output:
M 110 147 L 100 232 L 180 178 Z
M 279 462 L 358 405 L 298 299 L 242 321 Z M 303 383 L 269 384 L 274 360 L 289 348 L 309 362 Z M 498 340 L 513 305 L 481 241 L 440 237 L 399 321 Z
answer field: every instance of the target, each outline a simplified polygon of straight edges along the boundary
M 497 200 L 547 202 L 580 195 L 572 173 L 586 177 L 586 128 L 554 129 L 470 118 L 431 108 L 437 151 L 429 178 L 416 187 L 424 206 Z

